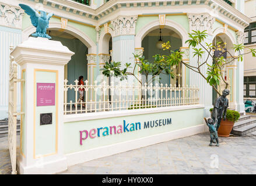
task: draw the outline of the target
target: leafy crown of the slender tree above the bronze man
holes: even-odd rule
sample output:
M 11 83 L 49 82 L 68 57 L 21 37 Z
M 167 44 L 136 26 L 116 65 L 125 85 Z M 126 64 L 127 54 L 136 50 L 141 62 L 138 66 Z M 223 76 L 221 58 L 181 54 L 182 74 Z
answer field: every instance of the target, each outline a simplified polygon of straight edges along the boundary
M 204 42 L 205 38 L 207 37 L 206 30 L 205 31 L 192 31 L 192 34 L 189 34 L 190 39 L 186 41 L 188 43 L 189 47 L 193 50 L 193 58 L 197 58 L 197 65 L 192 66 L 188 65 L 187 63 L 183 62 L 181 60 L 181 55 L 184 52 L 173 52 L 169 56 L 166 56 L 166 60 L 170 60 L 171 64 L 176 65 L 177 63 L 182 63 L 188 69 L 194 71 L 195 73 L 199 73 L 209 85 L 212 86 L 212 88 L 219 94 L 222 95 L 221 92 L 217 90 L 215 85 L 220 84 L 220 80 L 222 80 L 226 84 L 226 88 L 229 87 L 229 83 L 225 80 L 225 77 L 223 77 L 223 74 L 221 73 L 222 69 L 229 65 L 230 63 L 234 62 L 234 60 L 243 61 L 243 56 L 252 53 L 253 57 L 256 56 L 256 49 L 250 49 L 247 53 L 241 53 L 244 49 L 243 44 L 237 44 L 234 45 L 233 49 L 235 52 L 237 52 L 238 56 L 233 56 L 230 51 L 227 51 L 225 47 L 222 47 L 222 44 L 226 45 L 226 43 L 218 42 L 216 45 L 213 45 L 212 43 L 208 44 Z M 170 51 L 170 42 L 166 42 L 162 45 L 162 48 L 164 50 Z M 213 52 L 218 50 L 219 55 L 213 56 Z M 171 52 L 171 51 L 170 51 Z M 206 53 L 206 58 L 203 59 L 202 55 Z M 223 56 L 229 54 L 230 60 L 226 60 Z M 209 64 L 209 62 L 213 60 L 212 65 Z M 206 67 L 206 74 L 202 73 L 202 67 Z

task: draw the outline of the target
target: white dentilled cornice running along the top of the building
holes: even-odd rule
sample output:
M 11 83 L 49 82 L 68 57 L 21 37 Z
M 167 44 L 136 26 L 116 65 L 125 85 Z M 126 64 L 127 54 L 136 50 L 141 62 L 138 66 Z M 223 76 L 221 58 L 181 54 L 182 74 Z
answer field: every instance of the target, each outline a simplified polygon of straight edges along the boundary
M 7 0 L 1 0 L 3 2 L 7 2 Z M 17 0 L 12 0 L 13 2 L 10 2 L 10 4 L 15 3 L 16 6 L 18 6 L 18 3 L 27 3 L 27 4 L 33 4 L 37 3 L 36 0 L 30 1 L 30 0 L 22 0 L 22 1 L 17 1 Z M 41 0 L 40 0 L 41 2 Z M 66 18 L 71 17 L 70 19 L 76 18 L 79 22 L 84 23 L 85 19 L 88 17 L 89 19 L 86 20 L 86 22 L 96 22 L 95 24 L 99 24 L 99 21 L 97 20 L 102 20 L 105 16 L 108 15 L 114 15 L 116 14 L 116 10 L 118 9 L 129 9 L 129 12 L 131 15 L 135 15 L 138 11 L 138 9 L 145 9 L 149 8 L 148 3 L 151 2 L 151 7 L 150 8 L 155 8 L 156 2 L 159 2 L 160 5 L 157 6 L 157 9 L 164 10 L 166 8 L 166 12 L 170 12 L 170 8 L 175 11 L 176 8 L 183 8 L 185 6 L 200 6 L 200 8 L 211 8 L 216 11 L 218 11 L 220 14 L 225 15 L 226 19 L 235 22 L 237 27 L 247 27 L 248 24 L 250 24 L 251 19 L 241 13 L 239 10 L 233 8 L 229 4 L 227 4 L 223 0 L 197 0 L 196 3 L 194 1 L 183 1 L 183 0 L 161 0 L 161 1 L 153 1 L 153 0 L 111 0 L 108 1 L 107 3 L 104 3 L 101 5 L 99 8 L 94 9 L 93 7 L 83 5 L 82 3 L 75 2 L 72 0 L 47 0 L 47 5 L 50 5 L 49 7 L 51 9 L 56 9 L 55 15 L 62 16 L 64 12 L 67 13 Z M 175 3 L 174 3 L 175 2 Z M 183 3 L 180 3 L 183 2 Z M 127 7 L 127 3 L 129 3 L 129 6 Z M 164 5 L 163 5 L 164 3 Z M 54 5 L 54 6 L 51 6 Z M 136 7 L 134 7 L 136 5 Z M 157 3 L 158 5 L 158 3 Z M 59 6 L 62 6 L 62 10 L 59 9 Z M 147 7 L 146 7 L 147 6 Z M 50 9 L 47 6 L 47 9 Z M 188 9 L 189 11 L 189 9 Z M 104 13 L 105 12 L 105 13 Z M 108 13 L 106 13 L 108 12 Z M 173 11 L 171 11 L 173 12 Z M 205 11 L 202 11 L 205 12 Z M 184 11 L 184 13 L 190 13 Z M 72 16 L 73 15 L 73 16 Z M 87 15 L 87 16 L 86 16 Z M 81 21 L 84 20 L 84 21 Z

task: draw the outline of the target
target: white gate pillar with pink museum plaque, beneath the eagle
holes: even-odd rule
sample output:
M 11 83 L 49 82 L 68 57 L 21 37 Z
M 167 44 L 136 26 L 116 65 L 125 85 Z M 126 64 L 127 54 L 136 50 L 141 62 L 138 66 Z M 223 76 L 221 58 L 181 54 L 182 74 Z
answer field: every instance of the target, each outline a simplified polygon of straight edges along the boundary
M 22 152 L 17 162 L 20 174 L 52 174 L 67 169 L 62 133 L 64 65 L 73 54 L 59 41 L 33 37 L 18 45 L 11 53 L 24 71 L 25 78 L 22 103 L 25 115 L 20 134 Z M 49 86 L 46 88 L 51 88 L 52 92 L 47 89 L 44 94 L 39 93 L 43 90 L 38 87 L 39 83 L 47 86 L 51 84 L 55 91 Z M 50 98 L 45 95 L 50 95 Z M 51 103 L 45 102 L 45 99 L 50 99 Z M 45 113 L 51 122 L 42 125 L 40 116 Z

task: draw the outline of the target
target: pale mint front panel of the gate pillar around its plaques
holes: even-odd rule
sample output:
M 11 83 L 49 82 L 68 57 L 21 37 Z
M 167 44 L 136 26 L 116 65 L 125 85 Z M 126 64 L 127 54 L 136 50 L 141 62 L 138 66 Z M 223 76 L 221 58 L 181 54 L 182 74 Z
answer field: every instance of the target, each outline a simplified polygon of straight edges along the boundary
M 36 83 L 55 83 L 55 106 L 36 106 L 35 111 L 35 152 L 36 156 L 41 156 L 56 152 L 56 73 L 48 71 L 36 71 L 36 79 L 34 81 L 36 81 Z M 37 94 L 35 96 L 37 100 Z M 40 126 L 41 113 L 52 113 L 52 124 Z

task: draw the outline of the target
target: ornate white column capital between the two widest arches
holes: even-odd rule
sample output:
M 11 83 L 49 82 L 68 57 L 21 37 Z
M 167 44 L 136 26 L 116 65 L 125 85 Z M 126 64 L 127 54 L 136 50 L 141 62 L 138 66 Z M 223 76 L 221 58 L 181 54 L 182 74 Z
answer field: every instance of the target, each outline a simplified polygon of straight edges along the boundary
M 114 27 L 114 36 L 135 35 L 135 28 L 138 16 L 118 16 L 111 20 Z

